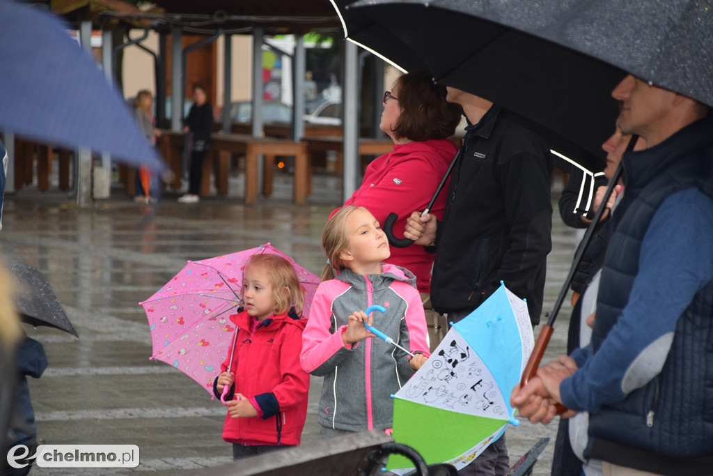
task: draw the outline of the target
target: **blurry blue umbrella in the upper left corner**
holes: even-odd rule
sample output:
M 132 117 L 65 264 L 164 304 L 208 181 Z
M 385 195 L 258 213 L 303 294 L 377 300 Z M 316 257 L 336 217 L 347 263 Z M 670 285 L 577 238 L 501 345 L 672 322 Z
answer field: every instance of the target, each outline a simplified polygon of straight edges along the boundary
M 163 169 L 118 92 L 56 16 L 0 1 L 0 130 Z

